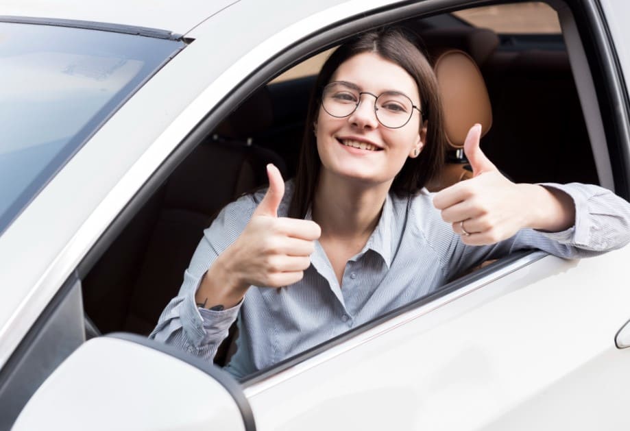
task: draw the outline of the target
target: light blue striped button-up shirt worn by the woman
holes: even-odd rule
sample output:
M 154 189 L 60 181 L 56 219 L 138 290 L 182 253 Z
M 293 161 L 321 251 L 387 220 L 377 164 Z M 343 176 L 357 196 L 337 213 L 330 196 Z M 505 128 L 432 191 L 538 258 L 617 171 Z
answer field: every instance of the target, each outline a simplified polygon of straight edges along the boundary
M 280 217 L 287 215 L 292 186 L 287 182 Z M 581 258 L 630 241 L 630 204 L 625 200 L 598 186 L 546 186 L 564 190 L 574 200 L 575 225 L 564 232 L 520 230 L 494 245 L 465 245 L 441 219 L 433 194 L 390 194 L 365 247 L 348 260 L 343 288 L 316 241 L 311 266 L 299 282 L 282 288 L 252 286 L 241 304 L 227 310 L 197 308 L 195 293 L 204 273 L 243 231 L 265 190 L 245 195 L 226 206 L 204 231 L 179 295 L 162 312 L 150 337 L 212 361 L 238 318 L 237 352 L 226 369 L 241 377 L 433 293 L 484 260 L 531 248 Z

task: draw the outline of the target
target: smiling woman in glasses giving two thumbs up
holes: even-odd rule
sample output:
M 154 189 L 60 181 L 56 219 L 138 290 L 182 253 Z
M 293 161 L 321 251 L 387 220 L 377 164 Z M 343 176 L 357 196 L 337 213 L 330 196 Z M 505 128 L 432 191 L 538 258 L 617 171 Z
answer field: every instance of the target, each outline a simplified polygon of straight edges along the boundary
M 474 178 L 428 193 L 444 161 L 437 83 L 396 30 L 330 56 L 307 124 L 295 180 L 269 166 L 266 192 L 219 214 L 152 337 L 212 360 L 238 317 L 227 369 L 242 376 L 487 258 L 594 256 L 629 241 L 627 202 L 597 186 L 509 182 L 479 149 L 478 125 L 465 143 Z

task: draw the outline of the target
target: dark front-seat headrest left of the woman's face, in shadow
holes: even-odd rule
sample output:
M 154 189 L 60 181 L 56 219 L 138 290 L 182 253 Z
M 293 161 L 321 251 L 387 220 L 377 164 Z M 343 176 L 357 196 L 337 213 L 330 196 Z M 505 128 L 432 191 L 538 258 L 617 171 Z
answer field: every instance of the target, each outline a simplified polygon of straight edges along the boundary
M 269 129 L 274 121 L 271 95 L 267 87 L 258 88 L 215 130 L 223 138 L 246 140 Z

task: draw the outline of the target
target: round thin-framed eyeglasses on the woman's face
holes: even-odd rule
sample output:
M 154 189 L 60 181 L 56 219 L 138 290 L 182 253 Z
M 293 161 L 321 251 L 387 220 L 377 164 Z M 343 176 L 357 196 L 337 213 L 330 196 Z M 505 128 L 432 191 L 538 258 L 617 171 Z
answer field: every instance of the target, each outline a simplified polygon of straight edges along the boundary
M 421 116 L 423 115 L 422 110 L 402 93 L 386 91 L 377 96 L 367 91 L 359 91 L 354 84 L 343 81 L 331 82 L 324 87 L 322 107 L 331 116 L 341 119 L 359 108 L 362 95 L 370 95 L 376 99 L 374 101 L 376 119 L 388 129 L 399 129 L 409 123 L 414 108 Z

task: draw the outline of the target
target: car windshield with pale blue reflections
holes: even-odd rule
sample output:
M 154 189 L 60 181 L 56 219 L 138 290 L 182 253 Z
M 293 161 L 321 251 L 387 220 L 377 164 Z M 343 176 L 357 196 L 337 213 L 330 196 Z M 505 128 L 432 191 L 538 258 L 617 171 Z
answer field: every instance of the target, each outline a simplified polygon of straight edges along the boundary
M 0 23 L 0 232 L 183 42 Z

